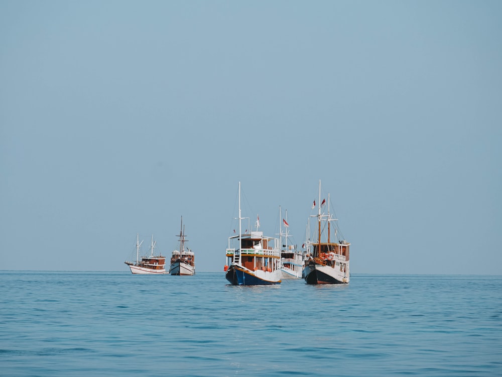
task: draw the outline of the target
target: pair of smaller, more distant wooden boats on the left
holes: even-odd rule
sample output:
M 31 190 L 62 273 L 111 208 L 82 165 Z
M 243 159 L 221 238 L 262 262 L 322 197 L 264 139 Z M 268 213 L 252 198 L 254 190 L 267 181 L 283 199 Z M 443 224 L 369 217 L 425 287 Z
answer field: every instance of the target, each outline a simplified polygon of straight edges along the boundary
M 171 256 L 169 271 L 170 275 L 195 275 L 195 254 L 185 246 L 187 242 L 183 217 L 181 218 L 181 230 L 179 236 L 180 249 L 174 250 Z M 161 254 L 154 255 L 155 242 L 152 235 L 151 254 L 140 258 L 139 234 L 136 236 L 136 262 L 124 262 L 131 269 L 133 274 L 166 274 L 166 257 Z

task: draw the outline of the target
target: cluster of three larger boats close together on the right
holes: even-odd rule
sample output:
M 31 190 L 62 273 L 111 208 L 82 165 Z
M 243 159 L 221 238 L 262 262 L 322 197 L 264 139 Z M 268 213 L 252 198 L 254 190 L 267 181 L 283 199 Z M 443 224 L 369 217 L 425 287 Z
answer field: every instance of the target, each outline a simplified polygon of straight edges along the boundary
M 316 208 L 316 201 L 312 209 Z M 265 236 L 257 217 L 256 230 L 242 232 L 239 182 L 239 233 L 228 237 L 226 249 L 225 277 L 232 285 L 280 284 L 283 279 L 305 279 L 307 284 L 346 284 L 350 280 L 350 243 L 339 239 L 337 219 L 330 213 L 328 204 L 321 202 L 321 182 L 316 219 L 316 231 L 310 234 L 310 217 L 307 223 L 307 237 L 298 250 L 288 245 L 289 224 L 282 218 L 279 238 Z M 282 225 L 286 230 L 283 233 Z M 282 237 L 285 237 L 283 244 Z

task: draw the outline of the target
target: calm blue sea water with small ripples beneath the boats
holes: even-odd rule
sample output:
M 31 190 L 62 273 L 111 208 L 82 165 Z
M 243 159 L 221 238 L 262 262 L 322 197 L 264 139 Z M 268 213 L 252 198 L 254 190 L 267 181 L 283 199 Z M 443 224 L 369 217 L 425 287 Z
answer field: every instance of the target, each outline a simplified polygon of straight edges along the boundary
M 502 375 L 502 277 L 0 272 L 5 376 Z

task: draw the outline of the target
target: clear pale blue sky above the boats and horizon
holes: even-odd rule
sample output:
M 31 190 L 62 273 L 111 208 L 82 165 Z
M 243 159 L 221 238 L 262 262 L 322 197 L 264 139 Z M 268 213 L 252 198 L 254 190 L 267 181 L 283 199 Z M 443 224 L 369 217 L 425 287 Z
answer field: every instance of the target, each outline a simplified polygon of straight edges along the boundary
M 221 272 L 242 216 L 352 274 L 502 274 L 499 1 L 0 1 L 0 270 Z M 243 200 L 244 201 L 244 200 Z M 280 211 L 281 215 L 280 216 Z

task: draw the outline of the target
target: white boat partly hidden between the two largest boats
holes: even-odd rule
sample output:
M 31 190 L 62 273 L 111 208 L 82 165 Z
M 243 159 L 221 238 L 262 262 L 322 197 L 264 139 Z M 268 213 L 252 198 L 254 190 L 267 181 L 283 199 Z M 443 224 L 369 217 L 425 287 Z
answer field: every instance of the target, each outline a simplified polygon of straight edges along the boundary
M 305 260 L 303 252 L 297 249 L 296 245 L 288 244 L 289 223 L 288 211 L 286 210 L 286 218 L 282 217 L 281 207 L 279 207 L 279 218 L 282 219 L 279 225 L 279 244 L 281 248 L 281 259 L 279 261 L 279 270 L 281 270 L 281 279 L 301 279 L 303 269 L 305 268 Z M 284 225 L 284 232 L 283 232 Z M 284 238 L 283 238 L 284 236 Z M 284 244 L 282 240 L 284 239 Z

